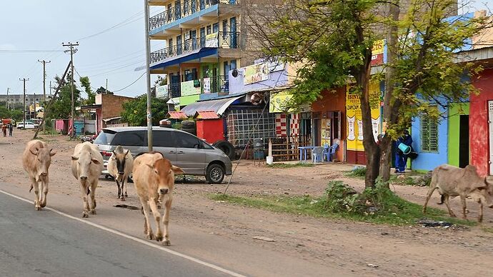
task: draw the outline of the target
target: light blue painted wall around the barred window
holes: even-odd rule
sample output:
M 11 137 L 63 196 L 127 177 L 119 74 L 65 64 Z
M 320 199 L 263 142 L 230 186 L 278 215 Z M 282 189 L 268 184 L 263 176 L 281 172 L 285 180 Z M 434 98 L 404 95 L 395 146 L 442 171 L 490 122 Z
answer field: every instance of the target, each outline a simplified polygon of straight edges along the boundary
M 438 107 L 440 113 L 446 113 L 441 106 Z M 448 135 L 449 124 L 447 119 L 439 119 L 438 121 L 438 151 L 437 152 L 423 152 L 421 149 L 421 121 L 420 118 L 414 118 L 411 127 L 412 147 L 414 151 L 419 153 L 419 156 L 412 160 L 412 170 L 416 171 L 430 171 L 442 163 L 448 163 Z

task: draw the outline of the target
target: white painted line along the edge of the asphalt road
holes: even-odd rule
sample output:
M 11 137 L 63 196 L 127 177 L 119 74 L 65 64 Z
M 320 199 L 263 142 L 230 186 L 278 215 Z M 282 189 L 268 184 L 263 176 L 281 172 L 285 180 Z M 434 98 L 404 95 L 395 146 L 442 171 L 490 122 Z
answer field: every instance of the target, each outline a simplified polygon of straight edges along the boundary
M 24 201 L 24 202 L 27 202 L 27 203 L 33 203 L 33 201 L 30 201 L 30 200 L 28 200 L 28 199 L 26 199 L 26 198 L 22 198 L 22 197 L 20 197 L 20 196 L 16 196 L 16 195 L 14 195 L 14 194 L 12 194 L 12 193 L 8 193 L 8 192 L 6 192 L 6 191 L 2 191 L 1 189 L 0 189 L 0 192 L 1 192 L 1 193 L 6 194 L 6 195 L 8 195 L 8 196 L 12 196 L 12 197 L 14 197 L 14 198 L 17 198 L 17 199 L 19 199 L 19 200 L 21 200 L 21 201 Z M 76 220 L 76 221 L 79 221 L 79 222 L 85 223 L 85 224 L 87 224 L 87 225 L 90 225 L 90 226 L 93 226 L 93 227 L 96 227 L 96 228 L 100 228 L 101 230 L 108 231 L 108 232 L 110 232 L 110 233 L 114 233 L 115 235 L 122 236 L 122 237 L 124 237 L 124 238 L 129 238 L 129 239 L 131 239 L 132 241 L 136 241 L 136 242 L 138 242 L 138 243 L 145 244 L 146 246 L 151 246 L 151 247 L 156 248 L 156 249 L 158 249 L 158 250 L 161 250 L 161 251 L 164 251 L 164 252 L 170 253 L 171 255 L 174 255 L 174 256 L 179 256 L 179 257 L 181 257 L 181 258 L 186 258 L 187 260 L 189 260 L 189 261 L 193 261 L 193 262 L 195 262 L 195 263 L 199 263 L 199 264 L 201 264 L 202 266 L 207 266 L 207 267 L 209 267 L 209 268 L 214 268 L 216 271 L 221 271 L 222 273 L 226 273 L 226 274 L 229 274 L 229 275 L 231 275 L 231 276 L 236 276 L 236 277 L 246 277 L 246 276 L 244 276 L 244 275 L 241 275 L 240 273 L 236 273 L 236 272 L 234 272 L 234 271 L 229 271 L 229 270 L 227 270 L 226 268 L 221 268 L 220 266 L 216 266 L 216 265 L 214 265 L 214 264 L 212 264 L 212 263 L 207 263 L 206 261 L 201 261 L 201 260 L 199 260 L 198 258 L 194 258 L 194 257 L 188 256 L 188 255 L 185 255 L 185 254 L 182 254 L 182 253 L 179 253 L 179 252 L 176 252 L 176 251 L 170 250 L 170 249 L 168 249 L 168 248 L 164 248 L 164 246 L 159 246 L 159 245 L 157 245 L 157 244 L 150 243 L 149 241 L 144 241 L 144 240 L 143 240 L 143 239 L 141 239 L 141 238 L 136 238 L 136 237 L 134 237 L 134 236 L 129 236 L 129 235 L 125 234 L 125 233 L 121 233 L 121 232 L 116 231 L 116 230 L 114 230 L 114 229 L 111 229 L 111 228 L 108 228 L 108 227 L 104 227 L 104 226 L 101 226 L 101 225 L 99 225 L 99 224 L 92 223 L 92 222 L 90 222 L 90 221 L 86 221 L 86 220 L 81 219 L 81 218 L 77 218 L 77 217 L 75 217 L 75 216 L 71 216 L 71 215 L 69 215 L 68 213 L 64 213 L 64 212 L 62 212 L 62 211 L 57 211 L 57 210 L 55 210 L 54 208 L 46 208 L 46 207 L 45 207 L 44 209 L 46 209 L 46 210 L 48 210 L 48 211 L 53 211 L 54 213 L 58 213 L 58 214 L 59 214 L 59 215 L 61 215 L 61 216 L 66 216 L 66 217 L 68 217 L 68 218 L 71 218 L 71 219 L 74 219 L 74 220 Z

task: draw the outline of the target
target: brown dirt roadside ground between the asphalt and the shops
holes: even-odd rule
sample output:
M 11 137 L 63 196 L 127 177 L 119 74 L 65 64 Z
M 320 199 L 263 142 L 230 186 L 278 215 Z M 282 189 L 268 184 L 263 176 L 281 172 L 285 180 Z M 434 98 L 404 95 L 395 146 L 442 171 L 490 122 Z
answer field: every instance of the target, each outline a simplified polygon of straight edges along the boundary
M 0 138 L 0 181 L 29 189 L 20 158 L 26 141 L 33 134 L 32 131 L 14 131 L 13 138 Z M 64 136 L 46 136 L 45 140 L 57 151 L 50 168 L 50 193 L 78 197 L 78 185 L 69 167 L 69 157 L 77 142 L 68 141 Z M 328 181 L 334 179 L 361 190 L 364 187 L 362 180 L 345 178 L 342 173 L 351 167 L 323 165 L 275 169 L 242 163 L 228 193 L 318 196 L 322 195 Z M 192 230 L 261 246 L 287 256 L 302 257 L 322 265 L 336 264 L 347 273 L 357 275 L 489 276 L 493 271 L 493 234 L 480 227 L 456 230 L 379 226 L 260 211 L 206 197 L 207 193 L 222 192 L 225 188 L 226 184 L 176 184 L 172 221 Z M 427 188 L 412 186 L 395 186 L 394 189 L 416 203 L 423 202 L 427 191 Z M 116 185 L 112 181 L 101 180 L 96 197 L 105 205 L 120 203 L 116 200 Z M 432 202 L 437 200 L 434 196 Z M 132 184 L 125 203 L 139 206 Z M 452 203 L 458 212 L 459 200 L 454 199 Z M 74 205 L 79 205 L 79 201 L 74 201 Z M 432 206 L 437 205 L 433 203 Z M 477 205 L 468 203 L 468 206 L 469 216 L 476 216 Z M 492 228 L 493 211 L 487 209 L 484 216 L 484 226 Z M 275 242 L 254 240 L 254 236 L 266 236 Z

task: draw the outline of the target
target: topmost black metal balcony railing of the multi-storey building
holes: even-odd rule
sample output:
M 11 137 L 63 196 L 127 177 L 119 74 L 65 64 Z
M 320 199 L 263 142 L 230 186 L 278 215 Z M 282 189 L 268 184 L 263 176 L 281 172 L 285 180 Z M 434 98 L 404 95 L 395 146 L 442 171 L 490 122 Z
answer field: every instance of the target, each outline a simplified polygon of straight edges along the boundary
M 171 23 L 178 19 L 182 19 L 186 16 L 214 6 L 216 4 L 239 4 L 239 0 L 184 0 L 181 1 L 179 6 L 173 6 L 171 9 L 156 14 L 149 19 L 149 31 L 157 29 L 164 24 Z

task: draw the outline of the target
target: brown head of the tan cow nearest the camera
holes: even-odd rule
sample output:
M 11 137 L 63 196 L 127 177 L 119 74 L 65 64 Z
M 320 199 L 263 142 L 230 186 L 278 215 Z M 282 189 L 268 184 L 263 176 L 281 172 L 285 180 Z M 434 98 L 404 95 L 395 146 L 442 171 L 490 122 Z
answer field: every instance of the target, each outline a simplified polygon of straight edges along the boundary
M 156 176 L 157 193 L 160 198 L 170 193 L 174 186 L 174 174 L 183 174 L 184 171 L 178 166 L 171 165 L 166 158 L 159 158 L 152 164 L 147 164 Z

